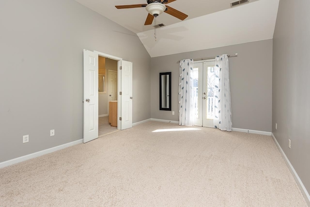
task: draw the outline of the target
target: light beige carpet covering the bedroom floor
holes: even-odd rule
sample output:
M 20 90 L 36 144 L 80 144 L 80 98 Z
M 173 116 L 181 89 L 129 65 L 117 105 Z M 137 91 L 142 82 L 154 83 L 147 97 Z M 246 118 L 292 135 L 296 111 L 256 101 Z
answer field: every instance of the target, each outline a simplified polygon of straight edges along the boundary
M 270 136 L 147 122 L 0 169 L 0 206 L 305 207 Z

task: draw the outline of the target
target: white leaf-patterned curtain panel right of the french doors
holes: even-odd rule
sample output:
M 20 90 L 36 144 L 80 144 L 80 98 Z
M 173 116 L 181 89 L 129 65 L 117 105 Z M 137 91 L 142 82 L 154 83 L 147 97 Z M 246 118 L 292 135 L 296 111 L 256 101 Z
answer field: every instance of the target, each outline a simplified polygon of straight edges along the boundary
M 232 131 L 232 104 L 231 89 L 229 83 L 228 56 L 221 55 L 215 59 L 215 72 L 218 74 L 215 80 L 215 116 L 214 127 L 222 131 Z

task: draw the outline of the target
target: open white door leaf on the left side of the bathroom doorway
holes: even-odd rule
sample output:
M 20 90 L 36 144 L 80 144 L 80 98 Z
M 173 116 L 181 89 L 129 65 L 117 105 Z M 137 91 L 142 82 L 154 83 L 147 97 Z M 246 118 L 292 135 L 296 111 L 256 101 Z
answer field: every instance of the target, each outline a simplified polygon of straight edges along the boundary
M 98 54 L 83 50 L 83 143 L 98 138 Z

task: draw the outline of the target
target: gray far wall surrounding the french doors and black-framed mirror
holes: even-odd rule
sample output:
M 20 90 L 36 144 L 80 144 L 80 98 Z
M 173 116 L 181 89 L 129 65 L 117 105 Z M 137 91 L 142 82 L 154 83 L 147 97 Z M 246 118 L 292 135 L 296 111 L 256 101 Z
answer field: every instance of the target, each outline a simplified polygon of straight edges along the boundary
M 179 64 L 183 59 L 235 54 L 229 58 L 233 127 L 271 132 L 272 40 L 186 52 L 151 60 L 151 117 L 178 121 Z M 159 73 L 172 72 L 171 107 L 159 110 Z

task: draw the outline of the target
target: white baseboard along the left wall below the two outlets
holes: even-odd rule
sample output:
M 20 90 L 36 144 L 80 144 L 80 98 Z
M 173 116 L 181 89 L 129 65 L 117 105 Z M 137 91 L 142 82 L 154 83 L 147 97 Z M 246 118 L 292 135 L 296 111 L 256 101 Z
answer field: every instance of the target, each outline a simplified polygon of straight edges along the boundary
M 79 143 L 83 143 L 83 139 L 80 139 L 80 140 L 77 140 L 77 141 L 73 141 L 71 143 L 65 143 L 65 144 L 62 144 L 62 145 L 59 145 L 59 146 L 55 146 L 55 147 L 52 147 L 52 148 L 49 148 L 49 149 L 45 149 L 45 150 L 42 150 L 42 151 L 39 151 L 39 152 L 34 152 L 34 153 L 31 153 L 29 155 L 25 155 L 25 156 L 22 156 L 22 157 L 19 157 L 19 158 L 10 159 L 10 160 L 4 161 L 4 162 L 0 162 L 0 168 L 7 167 L 9 165 L 13 165 L 13 164 L 16 164 L 18 162 L 26 161 L 28 159 L 37 158 L 37 157 L 40 157 L 42 155 L 46 155 L 48 153 L 55 152 L 55 151 L 58 151 L 60 149 L 64 149 L 64 148 L 67 148 L 69 146 L 73 146 L 73 145 L 76 145 L 76 144 L 79 144 Z

